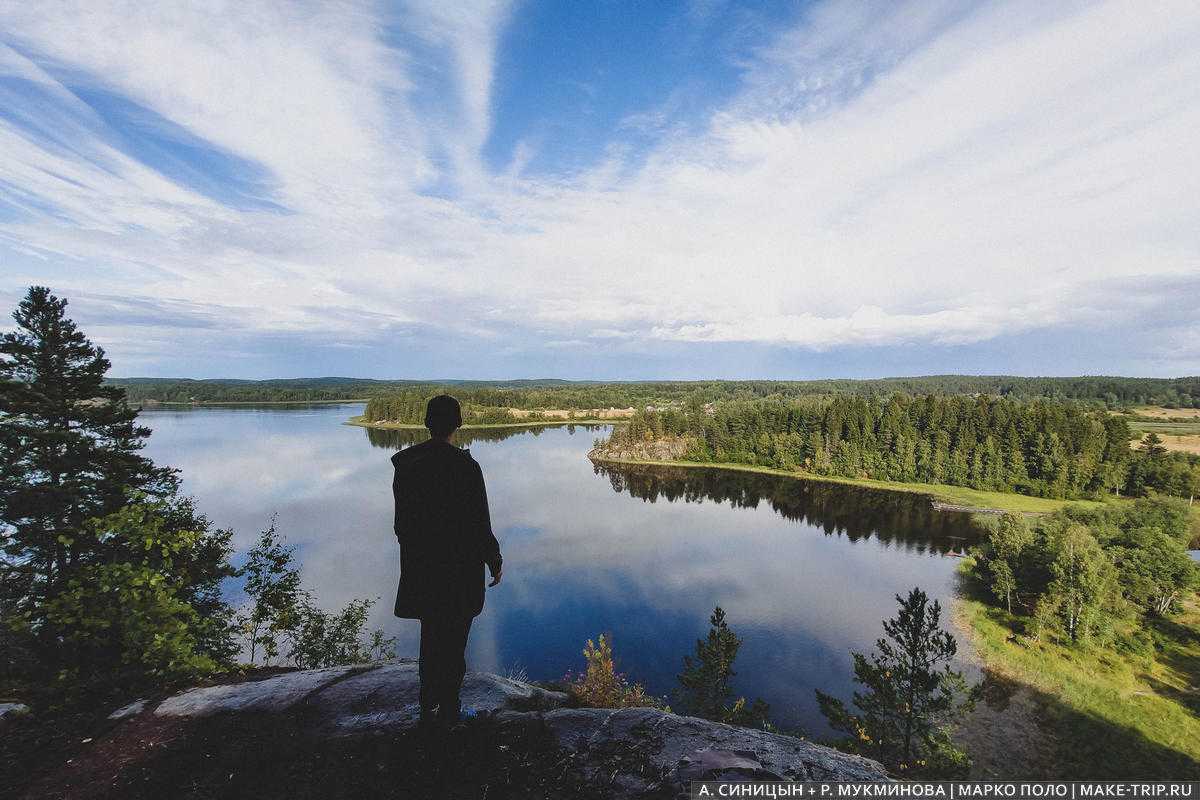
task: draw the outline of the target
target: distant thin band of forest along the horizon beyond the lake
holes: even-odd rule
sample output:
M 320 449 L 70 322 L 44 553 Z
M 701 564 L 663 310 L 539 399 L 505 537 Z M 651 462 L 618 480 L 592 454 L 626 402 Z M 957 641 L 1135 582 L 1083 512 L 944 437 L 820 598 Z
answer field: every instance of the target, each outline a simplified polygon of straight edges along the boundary
M 826 395 L 871 397 L 906 395 L 996 395 L 1015 399 L 1078 401 L 1096 408 L 1136 405 L 1200 407 L 1200 377 L 1190 378 L 1022 378 L 1013 375 L 928 375 L 869 380 L 691 380 L 691 381 L 569 381 L 524 380 L 367 380 L 359 378 L 298 378 L 276 380 L 192 380 L 176 378 L 115 378 L 131 402 L 173 403 L 314 402 L 337 399 L 398 399 L 451 391 L 480 407 L 520 409 L 629 408 L 680 403 L 696 396 L 703 402 L 755 398 L 800 398 Z M 400 401 L 397 408 L 404 405 Z M 368 409 L 370 413 L 370 409 Z M 407 421 L 388 404 L 376 405 L 374 419 Z M 420 422 L 420 420 L 416 420 Z

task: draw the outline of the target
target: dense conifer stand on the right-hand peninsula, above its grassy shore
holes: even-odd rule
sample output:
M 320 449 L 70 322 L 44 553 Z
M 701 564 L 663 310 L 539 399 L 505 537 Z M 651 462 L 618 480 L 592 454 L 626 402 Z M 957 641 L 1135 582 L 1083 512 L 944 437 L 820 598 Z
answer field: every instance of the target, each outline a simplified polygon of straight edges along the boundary
M 1200 481 L 1194 456 L 1153 440 L 1132 450 L 1120 415 L 1048 399 L 896 393 L 712 407 L 692 399 L 638 410 L 604 446 L 636 449 L 664 437 L 685 437 L 688 461 L 1048 498 L 1190 497 Z

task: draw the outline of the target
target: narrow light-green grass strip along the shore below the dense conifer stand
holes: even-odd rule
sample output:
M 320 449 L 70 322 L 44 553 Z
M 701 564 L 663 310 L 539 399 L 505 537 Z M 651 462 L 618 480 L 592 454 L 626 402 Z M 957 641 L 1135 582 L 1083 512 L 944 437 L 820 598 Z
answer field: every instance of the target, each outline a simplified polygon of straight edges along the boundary
M 1104 505 L 1096 500 L 1055 500 L 1050 498 L 1033 498 L 1027 494 L 1013 492 L 986 492 L 972 489 L 966 486 L 948 486 L 944 483 L 902 483 L 899 481 L 876 481 L 868 477 L 838 477 L 832 475 L 816 475 L 804 470 L 775 469 L 772 467 L 755 467 L 751 464 L 732 463 L 708 463 L 692 461 L 622 461 L 602 459 L 613 463 L 647 464 L 653 467 L 690 467 L 707 469 L 728 469 L 742 473 L 761 473 L 764 475 L 781 475 L 803 481 L 822 481 L 826 483 L 844 483 L 847 486 L 863 486 L 872 489 L 886 489 L 889 492 L 912 492 L 916 494 L 928 494 L 940 503 L 960 506 L 972 511 L 1013 511 L 1016 513 L 1050 513 L 1064 505 L 1082 505 L 1097 507 Z

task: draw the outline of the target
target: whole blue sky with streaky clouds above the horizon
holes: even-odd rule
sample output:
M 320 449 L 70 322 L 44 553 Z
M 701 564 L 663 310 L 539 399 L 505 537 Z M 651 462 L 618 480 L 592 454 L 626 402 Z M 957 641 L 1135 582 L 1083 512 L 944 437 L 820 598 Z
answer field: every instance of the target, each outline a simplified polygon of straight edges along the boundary
M 1200 5 L 0 0 L 119 377 L 1200 373 Z

